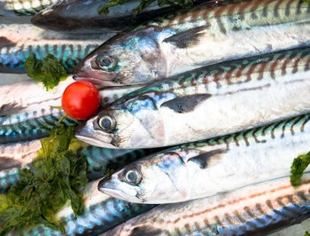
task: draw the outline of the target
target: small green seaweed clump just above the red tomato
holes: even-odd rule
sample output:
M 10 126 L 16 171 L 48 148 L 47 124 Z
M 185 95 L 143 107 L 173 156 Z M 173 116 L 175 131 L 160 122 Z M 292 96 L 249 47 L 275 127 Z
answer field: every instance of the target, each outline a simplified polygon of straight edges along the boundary
M 36 59 L 35 53 L 31 53 L 24 66 L 27 75 L 35 81 L 42 82 L 46 90 L 57 86 L 59 81 L 66 80 L 66 68 L 51 54 L 39 60 Z

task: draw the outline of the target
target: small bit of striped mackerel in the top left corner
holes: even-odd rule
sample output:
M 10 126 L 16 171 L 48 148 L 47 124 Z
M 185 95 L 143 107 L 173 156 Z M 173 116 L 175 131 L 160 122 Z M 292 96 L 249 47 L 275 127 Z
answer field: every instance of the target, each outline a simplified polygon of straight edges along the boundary
M 58 0 L 0 0 L 0 15 L 23 16 L 34 15 Z

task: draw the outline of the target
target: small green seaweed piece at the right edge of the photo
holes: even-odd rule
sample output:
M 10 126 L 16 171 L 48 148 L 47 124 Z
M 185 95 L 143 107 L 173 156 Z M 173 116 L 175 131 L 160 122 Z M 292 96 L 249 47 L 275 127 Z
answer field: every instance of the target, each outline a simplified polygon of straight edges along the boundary
M 291 164 L 291 185 L 300 185 L 304 170 L 310 164 L 310 152 L 298 155 Z

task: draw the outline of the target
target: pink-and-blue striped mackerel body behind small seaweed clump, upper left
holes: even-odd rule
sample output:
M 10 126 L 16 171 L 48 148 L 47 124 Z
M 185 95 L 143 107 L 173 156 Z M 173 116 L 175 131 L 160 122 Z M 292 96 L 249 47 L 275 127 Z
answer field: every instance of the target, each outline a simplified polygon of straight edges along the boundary
M 26 73 L 23 64 L 32 52 L 38 59 L 53 54 L 71 72 L 90 51 L 114 34 L 66 35 L 31 24 L 0 24 L 0 72 Z

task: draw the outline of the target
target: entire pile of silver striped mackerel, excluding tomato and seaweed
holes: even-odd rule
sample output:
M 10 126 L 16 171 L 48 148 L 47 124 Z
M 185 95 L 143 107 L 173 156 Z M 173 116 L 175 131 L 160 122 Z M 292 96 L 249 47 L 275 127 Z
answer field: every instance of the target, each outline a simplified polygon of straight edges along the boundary
M 259 235 L 310 217 L 310 172 L 298 188 L 289 179 L 310 146 L 310 2 L 199 1 L 179 12 L 153 3 L 133 21 L 138 0 L 104 17 L 107 0 L 0 0 L 0 73 L 53 54 L 102 86 L 75 133 L 94 145 L 74 145 L 93 182 L 81 216 L 58 211 L 66 235 Z M 36 28 L 25 15 L 39 10 Z M 0 193 L 32 168 L 70 83 L 0 87 Z

